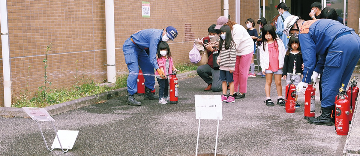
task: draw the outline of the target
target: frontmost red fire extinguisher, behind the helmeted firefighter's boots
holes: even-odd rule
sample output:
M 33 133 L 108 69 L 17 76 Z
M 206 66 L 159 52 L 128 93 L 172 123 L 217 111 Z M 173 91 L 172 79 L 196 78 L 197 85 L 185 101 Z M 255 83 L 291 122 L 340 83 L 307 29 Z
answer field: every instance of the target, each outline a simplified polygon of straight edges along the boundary
M 343 88 L 339 89 L 338 100 L 335 102 L 335 129 L 338 135 L 349 132 L 349 101 L 345 98 Z

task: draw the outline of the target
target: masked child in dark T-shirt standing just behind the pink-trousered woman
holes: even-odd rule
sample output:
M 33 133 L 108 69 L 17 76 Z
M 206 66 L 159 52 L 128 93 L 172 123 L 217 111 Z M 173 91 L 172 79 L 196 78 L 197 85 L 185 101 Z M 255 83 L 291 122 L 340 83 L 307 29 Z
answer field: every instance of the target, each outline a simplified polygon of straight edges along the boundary
M 254 57 L 256 54 L 256 40 L 258 38 L 257 36 L 257 30 L 254 28 L 255 26 L 255 21 L 252 18 L 249 18 L 245 21 L 246 27 L 248 28 L 246 31 L 249 33 L 249 35 L 251 36 L 252 40 L 254 41 L 254 53 L 252 55 L 251 58 L 251 63 L 250 63 L 250 69 L 251 72 L 249 73 L 248 77 L 256 77 L 255 75 L 255 63 L 254 63 Z

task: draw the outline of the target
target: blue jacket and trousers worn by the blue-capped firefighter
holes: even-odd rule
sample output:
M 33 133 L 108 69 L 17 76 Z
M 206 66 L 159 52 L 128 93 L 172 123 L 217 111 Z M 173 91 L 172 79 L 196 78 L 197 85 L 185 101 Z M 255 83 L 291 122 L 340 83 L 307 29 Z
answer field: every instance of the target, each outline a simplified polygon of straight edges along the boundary
M 129 70 L 127 77 L 127 92 L 134 95 L 138 92 L 137 79 L 139 66 L 144 74 L 145 86 L 154 90 L 155 77 L 154 68 L 159 68 L 156 61 L 157 46 L 162 39 L 163 30 L 145 29 L 132 34 L 126 39 L 122 50 L 125 56 L 125 63 Z M 149 55 L 145 52 L 149 49 Z

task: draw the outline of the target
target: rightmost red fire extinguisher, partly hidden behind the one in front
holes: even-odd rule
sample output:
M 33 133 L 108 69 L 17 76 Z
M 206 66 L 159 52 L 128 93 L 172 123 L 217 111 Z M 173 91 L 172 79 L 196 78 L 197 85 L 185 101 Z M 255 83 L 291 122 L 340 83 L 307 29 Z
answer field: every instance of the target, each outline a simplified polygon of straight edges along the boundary
M 354 114 L 353 108 L 355 108 L 355 103 L 357 100 L 357 96 L 359 94 L 359 88 L 357 85 L 357 78 L 351 79 L 350 86 L 348 90 L 346 91 L 346 94 L 348 96 L 348 101 L 350 101 L 350 114 L 349 114 L 349 123 L 351 124 L 352 115 Z M 350 99 L 349 99 L 350 98 Z

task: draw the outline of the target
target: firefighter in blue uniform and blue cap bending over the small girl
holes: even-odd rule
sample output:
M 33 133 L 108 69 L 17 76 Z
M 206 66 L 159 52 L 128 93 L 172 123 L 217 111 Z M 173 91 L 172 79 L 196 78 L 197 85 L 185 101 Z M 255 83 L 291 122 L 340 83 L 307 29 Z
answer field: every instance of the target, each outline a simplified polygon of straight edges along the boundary
M 165 77 L 165 73 L 159 69 L 156 61 L 157 46 L 161 41 L 174 41 L 177 36 L 177 30 L 172 27 L 166 27 L 163 30 L 145 29 L 132 34 L 122 46 L 125 56 L 125 63 L 129 70 L 127 77 L 127 99 L 126 103 L 131 106 L 140 106 L 141 102 L 136 101 L 134 94 L 138 91 L 137 79 L 139 66 L 143 71 L 145 78 L 144 99 L 158 99 L 152 93 L 155 85 L 154 68 L 160 76 Z

